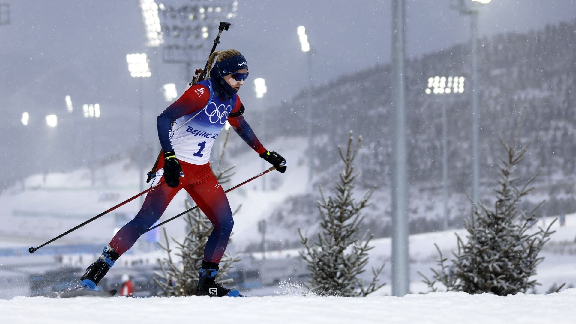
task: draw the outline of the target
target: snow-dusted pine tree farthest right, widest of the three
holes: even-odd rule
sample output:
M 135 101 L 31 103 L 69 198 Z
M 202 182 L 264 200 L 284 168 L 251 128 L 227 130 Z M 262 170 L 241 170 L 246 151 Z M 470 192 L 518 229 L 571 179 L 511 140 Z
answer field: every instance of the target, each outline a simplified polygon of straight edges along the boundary
M 543 202 L 528 213 L 518 209 L 522 198 L 534 189 L 529 186 L 537 176 L 521 187 L 516 186 L 518 178 L 513 176 L 530 144 L 518 148 L 523 116 L 524 111 L 513 144 L 509 145 L 499 135 L 506 154 L 500 157 L 494 208 L 482 202 L 478 205 L 472 202 L 471 217 L 464 224 L 468 232 L 467 242 L 457 235 L 458 252 L 453 254 L 452 266 L 446 264 L 447 259 L 436 246 L 440 254 L 440 269 L 431 269 L 433 280 L 420 273 L 431 291 L 437 291 L 434 284 L 440 282 L 448 291 L 506 296 L 526 292 L 537 285 L 531 277 L 536 274 L 536 266 L 544 260 L 538 254 L 554 232 L 550 232 L 552 224 L 546 229 L 534 228 L 534 212 Z

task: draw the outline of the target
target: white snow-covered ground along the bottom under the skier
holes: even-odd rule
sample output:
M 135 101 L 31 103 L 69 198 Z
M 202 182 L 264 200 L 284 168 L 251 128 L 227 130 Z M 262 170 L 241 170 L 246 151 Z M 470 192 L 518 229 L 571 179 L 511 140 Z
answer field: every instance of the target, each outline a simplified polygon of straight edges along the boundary
M 499 297 L 429 293 L 404 297 L 15 297 L 0 322 L 29 323 L 574 323 L 576 288 Z

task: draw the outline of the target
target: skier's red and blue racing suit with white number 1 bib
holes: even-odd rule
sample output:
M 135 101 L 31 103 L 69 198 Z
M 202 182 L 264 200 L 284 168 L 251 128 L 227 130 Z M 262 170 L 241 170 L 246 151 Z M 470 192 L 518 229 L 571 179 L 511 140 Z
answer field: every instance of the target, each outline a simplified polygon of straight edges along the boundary
M 234 220 L 228 198 L 211 171 L 208 161 L 214 140 L 228 120 L 234 131 L 257 153 L 264 153 L 266 149 L 244 120 L 244 106 L 238 95 L 234 95 L 230 100 L 222 100 L 214 95 L 209 102 L 209 86 L 210 82 L 207 80 L 192 85 L 158 116 L 158 137 L 162 149 L 164 152 L 176 153 L 184 177 L 180 178 L 177 188 L 163 184 L 147 194 L 137 216 L 124 225 L 110 242 L 110 246 L 119 255 L 129 250 L 136 240 L 160 219 L 172 198 L 184 189 L 214 225 L 204 250 L 204 260 L 220 262 L 228 245 Z M 194 118 L 188 120 L 192 116 Z M 164 180 L 164 176 L 161 176 L 164 173 L 163 168 L 164 160 L 161 160 L 153 186 Z

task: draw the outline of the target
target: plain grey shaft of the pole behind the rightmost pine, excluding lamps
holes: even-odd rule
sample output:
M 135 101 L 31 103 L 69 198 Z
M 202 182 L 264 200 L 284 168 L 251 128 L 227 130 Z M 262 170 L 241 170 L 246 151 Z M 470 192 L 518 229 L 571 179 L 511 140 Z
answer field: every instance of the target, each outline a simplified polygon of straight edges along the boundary
M 471 80 L 471 107 L 472 107 L 472 199 L 474 202 L 479 201 L 479 179 L 480 179 L 480 168 L 478 163 L 478 64 L 476 46 L 478 43 L 478 12 L 472 12 L 470 14 L 470 27 L 471 27 L 471 70 L 472 70 L 472 80 Z

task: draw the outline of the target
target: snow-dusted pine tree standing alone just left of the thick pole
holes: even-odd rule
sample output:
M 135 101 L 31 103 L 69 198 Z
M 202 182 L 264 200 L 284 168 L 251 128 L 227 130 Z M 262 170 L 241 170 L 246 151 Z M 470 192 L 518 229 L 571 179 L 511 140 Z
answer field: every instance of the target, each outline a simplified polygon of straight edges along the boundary
M 306 287 L 320 296 L 366 296 L 380 289 L 384 284 L 378 285 L 378 277 L 384 265 L 378 270 L 372 269 L 373 279 L 365 286 L 359 275 L 365 272 L 368 262 L 367 251 L 373 235 L 365 233 L 360 236 L 362 222 L 361 210 L 369 205 L 369 199 L 374 189 L 368 190 L 358 202 L 354 201 L 354 174 L 352 163 L 358 153 L 362 137 L 358 138 L 353 148 L 353 136 L 350 132 L 346 153 L 338 146 L 340 158 L 344 162 L 344 169 L 340 173 L 340 180 L 336 183 L 335 196 L 326 198 L 320 186 L 322 201 L 318 208 L 322 220 L 317 242 L 309 242 L 308 232 L 304 235 L 300 228 L 301 243 L 304 251 L 300 255 L 308 263 L 312 278 Z

